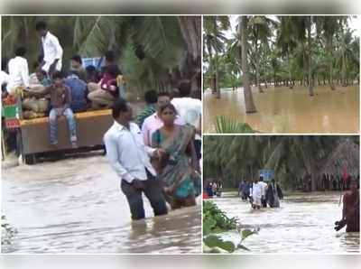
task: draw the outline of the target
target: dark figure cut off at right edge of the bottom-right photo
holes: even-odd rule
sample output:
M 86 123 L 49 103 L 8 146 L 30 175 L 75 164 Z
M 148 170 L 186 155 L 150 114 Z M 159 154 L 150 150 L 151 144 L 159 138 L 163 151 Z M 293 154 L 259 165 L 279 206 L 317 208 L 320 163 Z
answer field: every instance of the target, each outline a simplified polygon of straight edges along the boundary
M 342 219 L 335 223 L 338 231 L 346 226 L 346 232 L 360 231 L 360 193 L 357 189 L 357 181 L 350 182 L 350 190 L 344 195 L 344 207 L 342 209 Z

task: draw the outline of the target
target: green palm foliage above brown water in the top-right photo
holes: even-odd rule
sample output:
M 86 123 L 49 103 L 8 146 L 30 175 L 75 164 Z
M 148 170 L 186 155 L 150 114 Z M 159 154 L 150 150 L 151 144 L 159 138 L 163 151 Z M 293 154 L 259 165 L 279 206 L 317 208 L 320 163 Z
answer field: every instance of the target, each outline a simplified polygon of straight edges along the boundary
M 359 83 L 359 37 L 350 29 L 350 16 L 242 17 L 248 21 L 246 62 L 251 84 L 308 85 L 309 79 L 314 85 Z M 208 22 L 208 25 L 212 24 Z M 240 85 L 242 39 L 239 29 L 240 24 L 233 29 L 232 38 L 218 38 L 217 67 L 212 61 L 215 50 L 204 50 L 208 63 L 203 70 L 205 88 L 212 88 L 215 70 L 220 88 Z M 219 26 L 218 33 L 223 34 L 222 31 Z M 207 40 L 215 40 L 215 32 L 205 33 Z M 227 68 L 229 65 L 232 69 Z

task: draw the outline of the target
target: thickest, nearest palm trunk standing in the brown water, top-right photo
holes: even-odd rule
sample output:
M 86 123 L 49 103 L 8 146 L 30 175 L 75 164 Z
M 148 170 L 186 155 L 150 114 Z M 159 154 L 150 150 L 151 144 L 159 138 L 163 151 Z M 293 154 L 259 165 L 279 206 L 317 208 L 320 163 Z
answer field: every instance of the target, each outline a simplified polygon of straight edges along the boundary
M 254 97 L 252 95 L 252 89 L 249 85 L 249 73 L 248 73 L 248 48 L 247 48 L 247 17 L 241 16 L 240 27 L 238 27 L 241 31 L 241 42 L 242 42 L 242 71 L 243 71 L 243 88 L 245 94 L 245 113 L 255 113 L 257 110 L 255 109 Z

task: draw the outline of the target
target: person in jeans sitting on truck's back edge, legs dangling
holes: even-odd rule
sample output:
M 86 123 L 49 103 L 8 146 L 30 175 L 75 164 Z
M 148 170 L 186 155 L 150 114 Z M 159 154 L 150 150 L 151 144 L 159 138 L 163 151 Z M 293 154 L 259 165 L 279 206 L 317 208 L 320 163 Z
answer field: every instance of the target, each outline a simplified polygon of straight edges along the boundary
M 77 147 L 77 125 L 70 108 L 70 89 L 64 85 L 64 75 L 60 71 L 53 74 L 52 81 L 51 86 L 41 92 L 31 94 L 34 96 L 51 95 L 51 112 L 49 114 L 51 145 L 56 146 L 58 144 L 58 117 L 65 116 L 69 126 L 70 143 L 72 147 Z

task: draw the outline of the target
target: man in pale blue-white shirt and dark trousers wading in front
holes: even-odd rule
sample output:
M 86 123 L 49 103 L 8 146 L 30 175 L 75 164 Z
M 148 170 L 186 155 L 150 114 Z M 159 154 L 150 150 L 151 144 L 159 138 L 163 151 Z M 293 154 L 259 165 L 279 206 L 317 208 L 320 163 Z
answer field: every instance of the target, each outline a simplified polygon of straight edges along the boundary
M 143 144 L 143 136 L 133 119 L 132 107 L 117 99 L 113 106 L 114 125 L 104 135 L 106 157 L 121 179 L 121 189 L 128 200 L 132 219 L 145 218 L 142 193 L 150 200 L 155 216 L 167 214 L 160 181 L 150 156 L 160 157 L 161 149 Z

